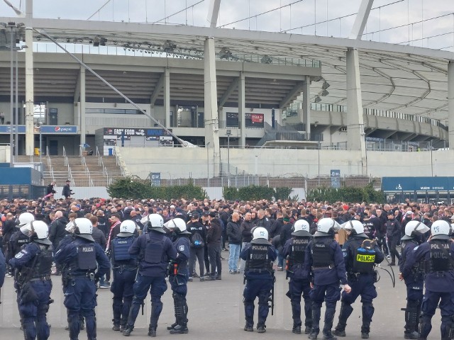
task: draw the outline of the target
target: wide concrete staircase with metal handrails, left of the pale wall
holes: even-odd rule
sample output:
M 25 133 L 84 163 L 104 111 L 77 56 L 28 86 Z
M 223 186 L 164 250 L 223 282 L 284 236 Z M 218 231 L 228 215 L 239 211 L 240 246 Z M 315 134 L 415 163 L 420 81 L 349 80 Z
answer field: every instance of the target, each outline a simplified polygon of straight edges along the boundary
M 123 177 L 121 166 L 115 157 L 98 156 L 43 156 L 43 180 L 47 185 L 55 181 L 57 187 L 65 185 L 70 179 L 73 187 L 109 186 Z M 39 156 L 18 156 L 14 162 L 38 163 Z

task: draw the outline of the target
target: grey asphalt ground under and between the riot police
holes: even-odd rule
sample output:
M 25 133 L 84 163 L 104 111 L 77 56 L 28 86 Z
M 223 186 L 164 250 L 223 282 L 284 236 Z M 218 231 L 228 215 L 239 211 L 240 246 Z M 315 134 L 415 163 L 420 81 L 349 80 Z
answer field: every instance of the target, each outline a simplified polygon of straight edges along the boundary
M 223 256 L 228 257 L 228 253 L 223 251 Z M 223 274 L 222 280 L 200 282 L 199 278 L 194 278 L 194 282 L 188 283 L 188 334 L 169 334 L 166 327 L 175 321 L 172 291 L 170 285 L 162 297 L 164 307 L 160 316 L 157 336 L 162 338 L 182 337 L 184 339 L 307 339 L 306 334 L 292 334 L 292 312 L 290 300 L 285 296 L 287 293 L 287 281 L 285 272 L 276 272 L 275 283 L 275 311 L 267 319 L 267 331 L 258 334 L 257 331 L 243 331 L 244 311 L 243 311 L 243 275 L 229 274 L 227 261 L 222 261 Z M 389 266 L 384 266 L 389 268 Z M 378 269 L 380 280 L 376 283 L 378 297 L 374 300 L 375 314 L 372 319 L 370 339 L 403 339 L 404 338 L 404 312 L 406 290 L 403 282 L 397 278 L 398 267 L 394 266 L 396 272 L 396 287 L 392 287 L 388 273 Z M 65 331 L 67 325 L 66 310 L 63 306 L 63 294 L 61 289 L 60 276 L 52 276 L 52 295 L 55 303 L 50 305 L 48 312 L 48 322 L 52 325 L 49 339 L 69 339 L 69 334 Z M 109 289 L 99 289 L 98 306 L 96 307 L 97 320 L 97 339 L 114 340 L 126 339 L 121 332 L 113 331 L 112 327 L 112 294 Z M 16 293 L 13 289 L 13 279 L 5 278 L 4 288 L 1 290 L 0 305 L 0 339 L 23 339 L 23 333 L 19 328 L 19 317 L 16 307 Z M 257 300 L 256 300 L 257 302 Z M 257 305 L 257 304 L 256 304 Z M 337 310 L 341 303 L 338 302 Z M 360 298 L 353 305 L 353 313 L 348 320 L 345 329 L 347 336 L 344 339 L 361 339 L 361 303 Z M 258 308 L 255 308 L 257 312 Z M 130 339 L 148 338 L 148 323 L 150 317 L 150 295 L 148 295 L 144 315 L 139 313 L 135 329 Z M 334 319 L 336 326 L 338 312 Z M 433 317 L 433 329 L 428 339 L 440 339 L 440 313 L 437 310 Z M 304 322 L 304 321 L 303 321 Z M 257 317 L 255 317 L 257 323 Z M 321 328 L 323 327 L 323 310 L 321 317 Z M 82 331 L 79 339 L 86 339 L 87 334 Z M 323 336 L 319 334 L 319 339 Z

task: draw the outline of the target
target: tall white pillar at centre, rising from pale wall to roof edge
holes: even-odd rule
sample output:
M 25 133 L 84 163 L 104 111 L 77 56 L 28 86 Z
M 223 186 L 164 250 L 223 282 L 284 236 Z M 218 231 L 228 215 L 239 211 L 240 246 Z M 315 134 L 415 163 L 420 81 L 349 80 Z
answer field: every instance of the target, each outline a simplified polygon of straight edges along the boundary
M 206 38 L 204 46 L 205 145 L 209 143 L 209 148 L 213 150 L 213 176 L 218 176 L 220 148 L 215 55 L 214 38 Z

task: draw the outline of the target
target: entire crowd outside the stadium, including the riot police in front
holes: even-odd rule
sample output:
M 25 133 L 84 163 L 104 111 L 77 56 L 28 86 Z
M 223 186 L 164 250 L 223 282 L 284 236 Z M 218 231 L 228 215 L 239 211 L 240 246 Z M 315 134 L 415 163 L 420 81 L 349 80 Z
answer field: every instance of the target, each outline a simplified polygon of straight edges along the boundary
M 454 331 L 454 206 L 410 201 L 58 200 L 49 195 L 1 200 L 0 214 L 0 283 L 5 275 L 14 276 L 26 339 L 48 339 L 51 274 L 62 276 L 65 296 L 74 298 L 65 299 L 70 339 L 77 339 L 85 326 L 89 339 L 96 339 L 96 288 L 114 293 L 113 329 L 124 336 L 133 331 L 150 290 L 148 335 L 156 336 L 166 277 L 175 307 L 175 323 L 168 329 L 187 333 L 187 282 L 222 280 L 221 260 L 227 251 L 228 274 L 245 277 L 245 331 L 254 330 L 256 297 L 256 329 L 266 331 L 274 271 L 287 271 L 294 333 L 302 332 L 301 297 L 304 333 L 317 339 L 325 302 L 323 339 L 336 339 L 346 335 L 352 305 L 360 296 L 360 333 L 367 339 L 377 297 L 375 266 L 384 260 L 389 266 L 399 264 L 399 278 L 406 283 L 404 338 L 426 339 L 439 299 L 442 339 L 450 339 Z M 424 285 L 428 303 L 422 305 Z M 341 309 L 333 329 L 338 300 Z

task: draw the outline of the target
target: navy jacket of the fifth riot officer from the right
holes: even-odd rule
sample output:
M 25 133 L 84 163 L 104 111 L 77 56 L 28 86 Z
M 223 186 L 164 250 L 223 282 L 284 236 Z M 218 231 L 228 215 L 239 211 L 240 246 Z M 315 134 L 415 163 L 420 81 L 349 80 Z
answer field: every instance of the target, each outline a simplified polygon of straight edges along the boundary
M 287 275 L 290 278 L 309 278 L 308 272 L 304 270 L 304 257 L 310 240 L 311 237 L 293 237 L 285 242 L 282 256 L 288 261 Z

